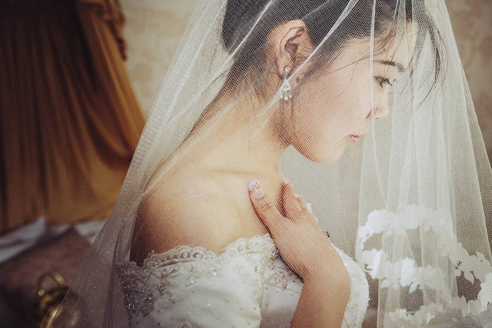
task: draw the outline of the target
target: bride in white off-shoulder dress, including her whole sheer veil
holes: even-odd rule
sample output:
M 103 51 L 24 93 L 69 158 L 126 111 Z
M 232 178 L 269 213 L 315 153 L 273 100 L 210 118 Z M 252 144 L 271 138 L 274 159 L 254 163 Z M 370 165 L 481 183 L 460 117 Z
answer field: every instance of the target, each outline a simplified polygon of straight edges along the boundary
M 446 17 L 199 3 L 59 322 L 481 326 L 492 174 Z

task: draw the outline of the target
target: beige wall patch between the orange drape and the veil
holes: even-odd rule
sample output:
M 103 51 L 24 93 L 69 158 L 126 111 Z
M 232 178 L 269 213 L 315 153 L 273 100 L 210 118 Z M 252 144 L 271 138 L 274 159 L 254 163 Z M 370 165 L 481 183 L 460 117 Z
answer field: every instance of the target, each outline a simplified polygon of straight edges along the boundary
M 127 69 L 147 116 L 196 0 L 120 0 L 126 18 Z

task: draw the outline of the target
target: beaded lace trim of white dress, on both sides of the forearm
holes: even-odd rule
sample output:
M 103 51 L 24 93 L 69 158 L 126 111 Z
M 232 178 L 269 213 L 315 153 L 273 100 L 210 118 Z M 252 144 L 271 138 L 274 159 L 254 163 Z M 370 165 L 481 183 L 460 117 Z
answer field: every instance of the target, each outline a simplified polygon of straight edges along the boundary
M 248 276 L 248 281 L 251 280 L 255 284 L 257 288 L 254 289 L 254 295 L 252 296 L 260 304 L 262 291 L 258 286 L 261 287 L 262 282 L 276 285 L 280 290 L 286 290 L 288 289 L 289 279 L 292 278 L 294 281 L 299 279 L 299 281 L 302 281 L 283 262 L 269 234 L 257 235 L 251 238 L 240 238 L 227 245 L 226 250 L 219 255 L 201 247 L 192 248 L 188 246 L 181 246 L 160 254 L 151 252 L 147 259 L 144 260 L 142 267 L 138 267 L 135 262 L 122 262 L 117 265 L 129 322 L 131 323 L 132 319 L 138 315 L 146 317 L 151 313 L 154 310 L 156 297 L 166 297 L 169 301 L 173 301 L 173 295 L 169 290 L 169 279 L 187 273 L 186 284 L 193 285 L 201 277 L 208 275 L 219 276 L 221 273 L 220 265 L 231 259 L 231 257 L 238 255 L 249 257 L 249 253 L 252 252 L 261 252 L 264 254 L 262 262 L 253 265 L 254 272 L 261 277 L 260 281 L 258 282 L 256 277 L 252 279 L 251 275 L 244 275 L 245 270 L 241 266 L 236 268 L 236 272 L 243 274 L 244 278 Z M 345 260 L 348 260 L 348 256 L 345 255 L 345 257 L 347 259 L 344 259 L 344 262 L 350 274 L 351 283 L 356 286 L 362 286 L 364 283 L 367 284 L 365 276 L 360 276 L 356 268 L 354 268 L 357 264 L 353 263 L 354 265 L 352 265 L 351 263 L 351 265 L 347 265 Z M 161 270 L 159 270 L 159 274 L 157 275 L 155 271 L 159 268 Z M 268 275 L 265 274 L 265 271 L 267 271 L 265 270 L 266 268 L 269 269 Z M 146 286 L 146 281 L 151 275 L 158 277 L 160 282 L 154 291 Z M 265 288 L 268 289 L 267 286 Z M 277 293 L 279 292 L 277 291 Z M 359 289 L 351 289 L 351 297 L 345 310 L 343 327 L 356 327 L 361 320 L 361 318 L 358 318 L 359 311 L 357 311 L 359 309 L 357 300 L 360 298 L 358 294 Z M 267 305 L 268 303 L 264 304 L 264 306 Z M 192 325 L 189 321 L 183 321 L 178 324 L 178 327 L 192 327 Z

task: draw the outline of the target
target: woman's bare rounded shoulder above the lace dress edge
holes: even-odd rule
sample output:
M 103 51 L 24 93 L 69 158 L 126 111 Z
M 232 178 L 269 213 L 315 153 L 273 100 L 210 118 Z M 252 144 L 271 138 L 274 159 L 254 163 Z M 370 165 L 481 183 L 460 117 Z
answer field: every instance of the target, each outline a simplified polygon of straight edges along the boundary
M 141 263 L 151 251 L 163 253 L 180 245 L 219 253 L 241 231 L 237 210 L 216 182 L 207 177 L 176 176 L 140 203 L 131 260 Z

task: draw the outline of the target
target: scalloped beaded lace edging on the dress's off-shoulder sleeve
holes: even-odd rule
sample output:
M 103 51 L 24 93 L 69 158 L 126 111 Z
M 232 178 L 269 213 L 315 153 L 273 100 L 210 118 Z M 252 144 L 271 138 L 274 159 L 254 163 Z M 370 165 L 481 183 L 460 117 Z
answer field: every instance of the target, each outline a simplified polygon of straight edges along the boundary
M 122 262 L 116 265 L 120 278 L 121 291 L 124 295 L 125 308 L 129 323 L 133 318 L 141 314 L 146 317 L 153 309 L 155 299 L 159 295 L 166 296 L 169 301 L 173 301 L 173 295 L 169 290 L 169 280 L 177 277 L 184 272 L 189 276 L 186 285 L 194 284 L 204 276 L 217 276 L 220 274 L 220 265 L 231 259 L 231 257 L 259 252 L 269 257 L 275 250 L 275 244 L 269 234 L 255 235 L 249 238 L 239 238 L 228 244 L 226 249 L 219 255 L 207 251 L 202 247 L 180 246 L 179 248 L 166 251 L 165 253 L 155 253 L 152 251 L 139 267 L 134 261 Z M 156 269 L 162 269 L 160 274 L 155 274 Z M 238 273 L 243 273 L 242 268 L 236 268 Z M 160 270 L 159 270 L 160 271 Z M 260 265 L 256 265 L 256 272 L 262 273 Z M 154 275 L 158 277 L 159 284 L 155 295 L 152 290 L 147 288 L 148 278 Z M 250 277 L 251 278 L 251 277 Z M 253 279 L 255 285 L 252 297 L 255 300 L 261 299 L 261 280 Z M 157 294 L 156 293 L 156 294 Z

